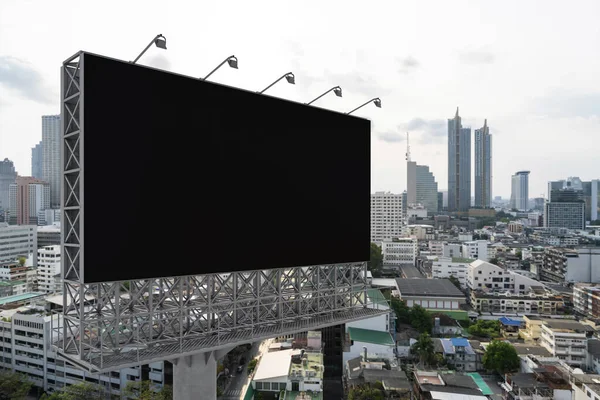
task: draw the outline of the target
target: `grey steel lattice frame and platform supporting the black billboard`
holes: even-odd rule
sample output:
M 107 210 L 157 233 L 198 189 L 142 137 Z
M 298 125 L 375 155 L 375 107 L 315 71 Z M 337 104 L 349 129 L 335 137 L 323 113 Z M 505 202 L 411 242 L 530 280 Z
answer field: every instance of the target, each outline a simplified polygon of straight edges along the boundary
M 83 54 L 61 70 L 60 357 L 106 372 L 389 313 L 365 262 L 85 283 Z

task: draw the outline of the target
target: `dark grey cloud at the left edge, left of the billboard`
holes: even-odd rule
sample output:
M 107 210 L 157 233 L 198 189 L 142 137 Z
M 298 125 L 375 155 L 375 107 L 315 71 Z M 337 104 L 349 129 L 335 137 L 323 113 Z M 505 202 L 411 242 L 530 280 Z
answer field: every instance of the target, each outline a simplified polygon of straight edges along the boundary
M 52 104 L 59 100 L 31 64 L 14 57 L 0 56 L 0 85 L 38 103 Z

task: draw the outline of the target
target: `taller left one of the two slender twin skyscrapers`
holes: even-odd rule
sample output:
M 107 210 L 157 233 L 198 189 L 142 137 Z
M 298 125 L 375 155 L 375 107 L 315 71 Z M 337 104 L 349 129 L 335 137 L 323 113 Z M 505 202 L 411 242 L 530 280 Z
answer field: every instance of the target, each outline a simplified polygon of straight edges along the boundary
M 448 120 L 448 211 L 471 207 L 471 128 L 456 115 Z

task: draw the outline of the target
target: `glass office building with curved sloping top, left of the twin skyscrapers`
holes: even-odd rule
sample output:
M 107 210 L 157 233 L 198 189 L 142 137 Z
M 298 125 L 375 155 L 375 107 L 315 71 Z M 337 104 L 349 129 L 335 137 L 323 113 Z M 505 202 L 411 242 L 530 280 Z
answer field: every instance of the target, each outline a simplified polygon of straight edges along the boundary
M 426 165 L 407 163 L 408 204 L 421 204 L 429 214 L 438 212 L 438 191 L 435 177 Z

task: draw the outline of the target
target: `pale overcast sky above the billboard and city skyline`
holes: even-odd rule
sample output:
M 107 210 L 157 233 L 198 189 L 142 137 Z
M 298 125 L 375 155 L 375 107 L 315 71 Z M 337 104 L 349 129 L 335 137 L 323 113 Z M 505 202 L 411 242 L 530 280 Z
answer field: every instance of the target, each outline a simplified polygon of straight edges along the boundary
M 413 161 L 447 188 L 447 119 L 459 107 L 493 135 L 493 196 L 529 170 L 530 197 L 549 180 L 600 178 L 600 2 L 102 1 L 0 2 L 0 159 L 31 173 L 41 116 L 60 112 L 60 67 L 80 50 L 355 114 L 372 123 L 371 189 L 406 189 Z M 126 94 L 126 88 L 123 88 Z M 115 107 L 115 115 L 122 110 Z M 123 114 L 121 114 L 122 116 Z M 118 117 L 117 117 L 118 118 Z M 173 160 L 177 170 L 177 160 Z M 473 192 L 474 195 L 474 192 Z

